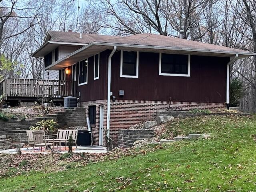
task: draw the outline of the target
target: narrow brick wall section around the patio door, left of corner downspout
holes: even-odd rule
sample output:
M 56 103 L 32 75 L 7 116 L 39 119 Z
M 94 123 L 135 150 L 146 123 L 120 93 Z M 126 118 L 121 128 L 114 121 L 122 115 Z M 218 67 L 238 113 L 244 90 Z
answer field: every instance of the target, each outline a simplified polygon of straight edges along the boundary
M 97 100 L 97 101 L 89 101 L 82 102 L 81 106 L 86 109 L 85 116 L 89 117 L 89 106 L 96 106 L 96 124 L 92 125 L 92 135 L 94 145 L 99 144 L 99 135 L 100 135 L 100 105 L 104 106 L 103 109 L 103 145 L 106 145 L 106 127 L 107 127 L 107 100 Z

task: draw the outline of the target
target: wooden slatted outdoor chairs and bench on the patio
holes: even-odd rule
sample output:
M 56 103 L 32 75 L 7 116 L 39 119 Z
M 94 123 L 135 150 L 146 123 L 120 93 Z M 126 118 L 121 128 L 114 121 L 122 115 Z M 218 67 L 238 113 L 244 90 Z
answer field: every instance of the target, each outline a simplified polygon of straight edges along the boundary
M 60 148 L 62 143 L 65 143 L 65 150 L 66 150 L 68 139 L 70 138 L 70 136 L 72 137 L 72 142 L 76 144 L 77 134 L 78 134 L 78 130 L 68 130 L 68 129 L 66 130 L 59 129 L 57 134 L 52 134 L 52 135 L 45 135 L 44 131 L 26 130 L 26 132 L 28 137 L 28 146 L 30 144 L 34 144 L 33 152 L 36 146 L 38 146 L 39 149 L 41 148 L 41 150 L 42 150 L 42 147 L 44 147 L 44 152 L 45 152 L 45 149 L 47 147 L 50 148 L 50 146 L 53 146 L 52 150 L 54 150 L 55 144 L 59 145 L 59 148 Z M 76 144 L 76 148 L 77 148 L 77 144 Z

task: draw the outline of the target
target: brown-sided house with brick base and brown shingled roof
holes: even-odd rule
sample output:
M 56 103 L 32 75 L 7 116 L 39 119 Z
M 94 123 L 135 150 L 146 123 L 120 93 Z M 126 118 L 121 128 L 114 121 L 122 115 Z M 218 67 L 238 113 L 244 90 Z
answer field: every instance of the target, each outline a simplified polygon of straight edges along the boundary
M 158 110 L 218 110 L 229 103 L 229 66 L 255 53 L 156 34 L 48 32 L 34 53 L 76 82 L 94 142 L 152 120 Z

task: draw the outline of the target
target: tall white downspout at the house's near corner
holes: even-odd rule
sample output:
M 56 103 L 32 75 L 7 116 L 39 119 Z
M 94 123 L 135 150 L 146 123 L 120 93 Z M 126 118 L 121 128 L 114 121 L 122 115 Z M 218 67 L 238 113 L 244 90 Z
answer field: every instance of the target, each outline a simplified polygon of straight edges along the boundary
M 114 46 L 114 49 L 110 53 L 108 57 L 108 101 L 107 101 L 107 137 L 109 137 L 110 133 L 110 87 L 111 87 L 111 58 L 116 51 L 116 46 Z

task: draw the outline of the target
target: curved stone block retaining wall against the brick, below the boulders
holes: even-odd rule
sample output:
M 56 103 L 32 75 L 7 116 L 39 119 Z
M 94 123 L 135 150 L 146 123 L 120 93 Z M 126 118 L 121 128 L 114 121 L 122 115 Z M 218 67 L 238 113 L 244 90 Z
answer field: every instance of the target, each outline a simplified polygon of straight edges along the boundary
M 130 147 L 134 142 L 154 137 L 152 129 L 119 129 L 117 143 L 119 147 Z

